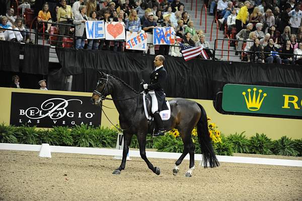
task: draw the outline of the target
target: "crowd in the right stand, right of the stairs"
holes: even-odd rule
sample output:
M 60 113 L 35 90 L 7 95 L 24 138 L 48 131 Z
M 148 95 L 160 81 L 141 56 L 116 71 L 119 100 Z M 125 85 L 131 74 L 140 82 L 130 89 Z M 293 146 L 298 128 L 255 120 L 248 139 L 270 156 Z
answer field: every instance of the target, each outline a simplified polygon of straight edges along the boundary
M 236 55 L 240 53 L 242 60 L 302 63 L 300 2 L 213 0 L 208 5 L 220 29 L 227 29 L 225 31 L 238 40 Z

